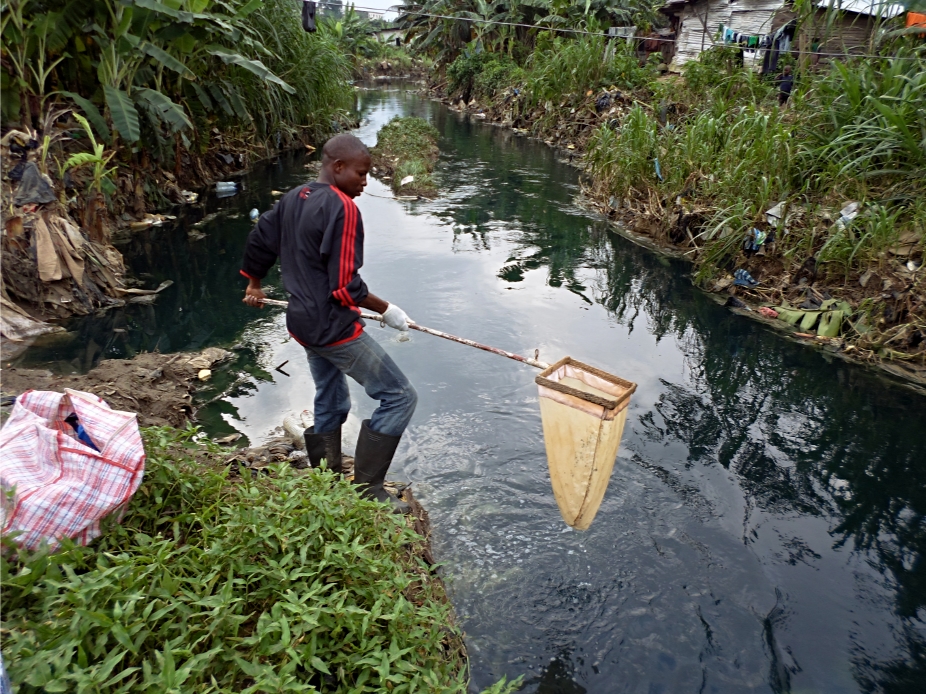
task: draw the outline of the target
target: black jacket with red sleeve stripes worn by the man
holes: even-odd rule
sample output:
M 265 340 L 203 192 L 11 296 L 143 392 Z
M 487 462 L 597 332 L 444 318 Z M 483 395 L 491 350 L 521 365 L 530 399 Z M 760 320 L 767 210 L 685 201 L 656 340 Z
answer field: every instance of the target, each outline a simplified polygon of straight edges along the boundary
M 347 195 L 327 183 L 293 188 L 248 235 L 241 274 L 263 279 L 280 259 L 289 293 L 286 327 L 303 345 L 348 342 L 363 332 L 358 304 L 369 291 L 363 221 Z

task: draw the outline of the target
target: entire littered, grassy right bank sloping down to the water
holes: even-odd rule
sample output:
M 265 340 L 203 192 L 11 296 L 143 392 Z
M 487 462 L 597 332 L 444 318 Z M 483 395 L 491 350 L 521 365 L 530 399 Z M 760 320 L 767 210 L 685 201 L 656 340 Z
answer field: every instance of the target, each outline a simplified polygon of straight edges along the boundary
M 603 31 L 596 12 L 556 26 Z M 624 24 L 659 22 L 645 8 L 634 16 Z M 743 67 L 735 47 L 673 75 L 602 36 L 485 24 L 464 37 L 450 20 L 400 21 L 437 63 L 432 95 L 563 150 L 589 203 L 690 260 L 698 286 L 926 386 L 922 42 L 902 34 L 880 57 L 818 65 L 785 56 L 779 70 L 791 64 L 796 80 L 782 108 L 775 80 Z

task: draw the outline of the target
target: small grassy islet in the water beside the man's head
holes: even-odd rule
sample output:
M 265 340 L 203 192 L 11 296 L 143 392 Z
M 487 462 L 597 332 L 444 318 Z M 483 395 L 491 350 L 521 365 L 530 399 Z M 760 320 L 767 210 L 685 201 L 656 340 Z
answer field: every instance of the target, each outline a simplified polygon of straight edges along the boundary
M 423 118 L 396 116 L 376 134 L 370 151 L 373 174 L 388 179 L 397 195 L 434 195 L 437 136 L 437 129 Z M 409 176 L 412 180 L 403 185 Z

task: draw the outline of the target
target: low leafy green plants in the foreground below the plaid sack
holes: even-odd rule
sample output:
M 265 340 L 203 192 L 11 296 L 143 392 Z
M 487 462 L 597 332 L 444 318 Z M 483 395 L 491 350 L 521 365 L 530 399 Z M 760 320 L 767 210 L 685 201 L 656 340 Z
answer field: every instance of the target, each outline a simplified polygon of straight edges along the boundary
M 232 477 L 194 428 L 144 437 L 144 482 L 92 546 L 3 539 L 20 692 L 466 691 L 461 634 L 404 518 L 326 470 Z

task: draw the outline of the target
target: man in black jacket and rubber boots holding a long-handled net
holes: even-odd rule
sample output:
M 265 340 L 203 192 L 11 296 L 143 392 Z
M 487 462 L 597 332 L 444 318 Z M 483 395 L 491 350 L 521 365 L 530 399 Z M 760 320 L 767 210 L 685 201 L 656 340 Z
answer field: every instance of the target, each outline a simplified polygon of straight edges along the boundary
M 322 150 L 318 180 L 298 186 L 262 215 L 248 236 L 241 274 L 248 278 L 244 303 L 262 307 L 261 280 L 280 259 L 289 294 L 286 326 L 301 344 L 315 381 L 315 424 L 306 429 L 309 462 L 325 458 L 342 471 L 341 426 L 350 411 L 346 376 L 364 387 L 379 407 L 363 422 L 354 457 L 354 483 L 363 493 L 408 505 L 383 488 L 418 395 L 395 362 L 363 331 L 360 308 L 382 314 L 386 325 L 408 330 L 409 318 L 395 304 L 370 293 L 363 265 L 363 222 L 353 202 L 363 192 L 370 153 L 353 135 L 337 135 Z

